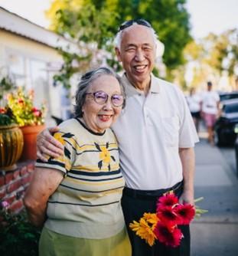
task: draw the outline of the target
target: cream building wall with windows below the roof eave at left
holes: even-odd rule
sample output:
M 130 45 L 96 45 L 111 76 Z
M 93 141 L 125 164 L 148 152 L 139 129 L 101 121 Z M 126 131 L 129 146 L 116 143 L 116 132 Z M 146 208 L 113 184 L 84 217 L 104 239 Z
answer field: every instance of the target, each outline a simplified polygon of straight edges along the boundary
M 64 116 L 62 97 L 65 100 L 66 94 L 62 86 L 54 86 L 53 80 L 62 63 L 55 48 L 0 29 L 0 77 L 8 68 L 18 86 L 34 90 L 36 107 L 42 101 L 47 103 L 46 126 L 55 124 L 51 116 Z

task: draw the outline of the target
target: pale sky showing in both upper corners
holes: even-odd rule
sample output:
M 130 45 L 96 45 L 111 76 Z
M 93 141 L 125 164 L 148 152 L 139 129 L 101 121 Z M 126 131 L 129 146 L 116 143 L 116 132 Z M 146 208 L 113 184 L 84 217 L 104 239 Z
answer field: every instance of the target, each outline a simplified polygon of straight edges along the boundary
M 51 0 L 0 0 L 0 6 L 21 17 L 47 27 L 44 10 Z M 220 34 L 227 29 L 238 28 L 238 0 L 187 0 L 187 10 L 191 14 L 191 33 L 202 38 L 214 32 Z

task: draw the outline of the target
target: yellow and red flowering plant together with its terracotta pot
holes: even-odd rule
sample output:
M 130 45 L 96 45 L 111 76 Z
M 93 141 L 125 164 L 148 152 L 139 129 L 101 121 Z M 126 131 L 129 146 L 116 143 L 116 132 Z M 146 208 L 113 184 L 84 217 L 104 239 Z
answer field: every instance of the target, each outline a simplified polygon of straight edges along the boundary
M 44 118 L 47 113 L 45 103 L 41 107 L 34 106 L 34 90 L 26 92 L 24 87 L 18 87 L 7 96 L 8 108 L 13 113 L 13 121 L 17 123 L 24 137 L 24 147 L 21 161 L 36 159 L 36 136 L 44 130 Z

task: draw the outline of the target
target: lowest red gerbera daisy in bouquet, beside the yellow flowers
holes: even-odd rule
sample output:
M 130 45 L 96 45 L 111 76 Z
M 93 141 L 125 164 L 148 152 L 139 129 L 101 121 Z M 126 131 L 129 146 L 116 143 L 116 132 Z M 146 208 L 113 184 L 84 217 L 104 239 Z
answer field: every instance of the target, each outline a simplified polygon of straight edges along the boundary
M 155 227 L 154 233 L 156 238 L 161 243 L 165 243 L 166 246 L 177 247 L 181 243 L 183 234 L 177 226 L 171 228 L 170 226 L 164 225 L 161 222 Z

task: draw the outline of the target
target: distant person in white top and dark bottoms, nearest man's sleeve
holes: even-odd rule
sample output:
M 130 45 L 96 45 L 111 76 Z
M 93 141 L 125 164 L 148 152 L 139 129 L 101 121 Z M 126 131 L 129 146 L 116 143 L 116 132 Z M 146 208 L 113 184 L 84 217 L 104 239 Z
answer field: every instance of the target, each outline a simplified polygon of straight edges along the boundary
M 198 132 L 199 120 L 201 115 L 201 97 L 199 94 L 196 94 L 196 89 L 191 87 L 190 94 L 186 98 L 189 110 L 194 120 L 194 125 Z

